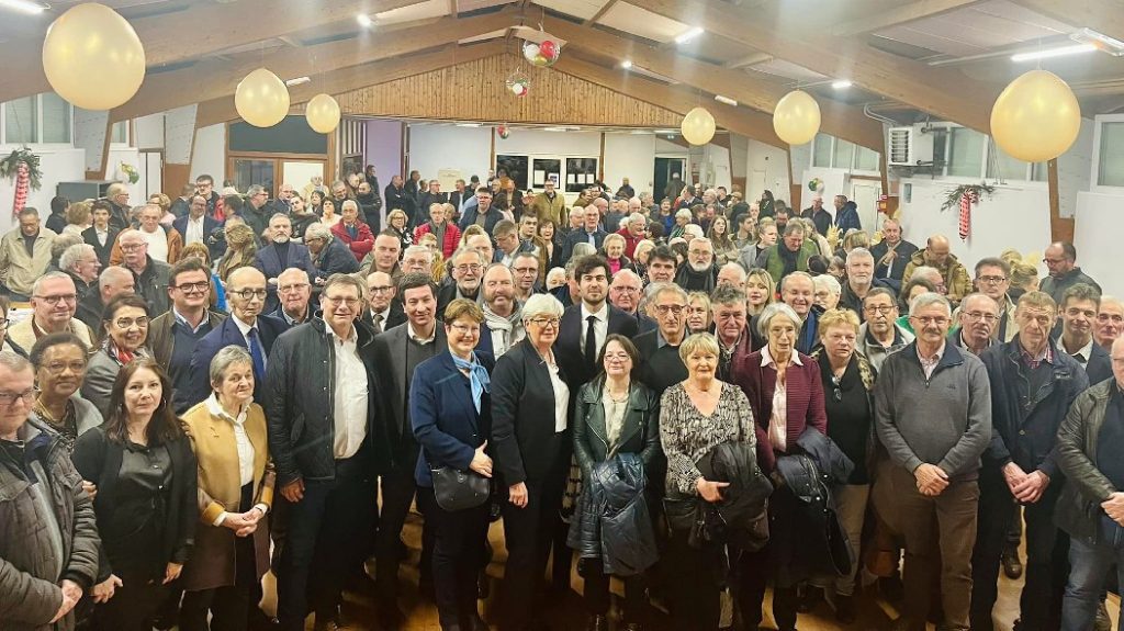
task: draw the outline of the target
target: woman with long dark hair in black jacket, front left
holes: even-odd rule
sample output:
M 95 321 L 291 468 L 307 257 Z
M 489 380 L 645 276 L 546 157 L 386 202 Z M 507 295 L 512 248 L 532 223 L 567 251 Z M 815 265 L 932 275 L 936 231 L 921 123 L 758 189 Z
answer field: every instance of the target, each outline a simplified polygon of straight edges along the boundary
M 191 552 L 198 469 L 172 412 L 171 387 L 152 359 L 126 364 L 105 424 L 74 446 L 74 467 L 98 487 L 101 561 L 92 596 L 99 629 L 149 631 Z

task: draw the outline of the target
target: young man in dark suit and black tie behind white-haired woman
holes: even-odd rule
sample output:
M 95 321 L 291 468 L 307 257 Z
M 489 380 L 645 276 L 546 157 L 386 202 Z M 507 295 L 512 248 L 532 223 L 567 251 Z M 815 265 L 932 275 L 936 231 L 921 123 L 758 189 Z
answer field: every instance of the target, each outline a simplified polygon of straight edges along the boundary
M 566 308 L 562 314 L 559 339 L 554 348 L 559 365 L 565 371 L 570 393 L 598 373 L 597 357 L 609 333 L 632 338 L 640 329 L 636 318 L 613 307 L 609 295 L 609 264 L 600 256 L 587 256 L 573 269 L 581 292 L 581 304 Z

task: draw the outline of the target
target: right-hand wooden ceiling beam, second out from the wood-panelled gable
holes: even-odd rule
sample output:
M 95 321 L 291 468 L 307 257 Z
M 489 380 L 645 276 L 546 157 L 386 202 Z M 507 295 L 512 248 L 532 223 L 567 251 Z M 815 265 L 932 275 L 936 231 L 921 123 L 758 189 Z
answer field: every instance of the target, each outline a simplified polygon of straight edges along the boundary
M 632 60 L 633 64 L 663 76 L 695 86 L 711 94 L 723 94 L 749 108 L 765 112 L 771 117 L 788 89 L 744 72 L 724 68 L 678 55 L 670 51 L 652 48 L 640 42 L 625 39 L 602 29 L 582 27 L 566 20 L 547 17 L 543 28 L 575 46 L 599 55 L 617 60 Z M 563 56 L 564 58 L 564 56 Z M 861 108 L 818 99 L 821 129 L 825 134 L 850 140 L 878 153 L 885 150 L 882 125 L 862 113 Z M 708 103 L 709 109 L 715 103 Z

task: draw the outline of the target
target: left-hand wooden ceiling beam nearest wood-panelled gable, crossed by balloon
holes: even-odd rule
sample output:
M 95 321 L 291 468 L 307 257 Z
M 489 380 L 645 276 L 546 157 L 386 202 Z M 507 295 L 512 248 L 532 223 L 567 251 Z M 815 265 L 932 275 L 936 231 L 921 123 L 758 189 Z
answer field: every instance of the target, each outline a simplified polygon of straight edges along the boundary
M 502 53 L 504 43 L 497 40 L 469 46 L 452 45 L 438 51 L 411 55 L 409 57 L 334 70 L 317 75 L 311 83 L 291 88 L 289 90 L 289 100 L 296 111 L 299 112 L 301 108 L 297 106 L 308 102 L 312 97 L 321 92 L 341 94 Z M 233 97 L 211 99 L 199 103 L 196 127 L 207 127 L 209 125 L 237 120 L 238 118 L 238 111 L 234 107 Z

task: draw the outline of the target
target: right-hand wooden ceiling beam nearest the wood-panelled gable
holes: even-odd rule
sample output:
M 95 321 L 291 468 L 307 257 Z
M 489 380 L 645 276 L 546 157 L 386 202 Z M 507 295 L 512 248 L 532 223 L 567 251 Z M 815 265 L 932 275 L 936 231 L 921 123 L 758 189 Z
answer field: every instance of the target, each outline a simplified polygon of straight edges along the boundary
M 572 55 L 563 55 L 552 68 L 676 113 L 686 115 L 698 106 L 698 97 L 695 94 L 656 81 L 642 79 L 635 73 L 623 73 L 579 60 Z M 718 127 L 767 145 L 788 149 L 788 145 L 773 131 L 771 116 L 718 102 L 707 103 L 706 108 L 714 116 Z

